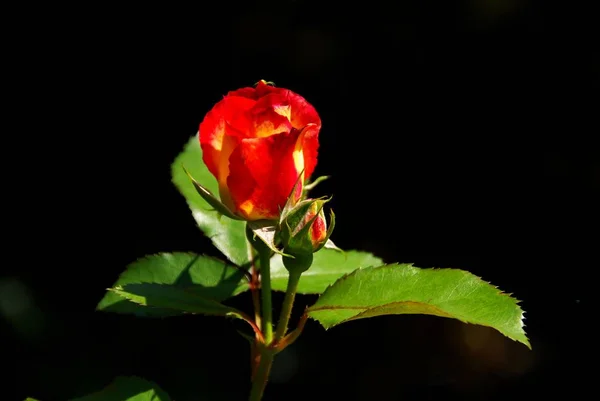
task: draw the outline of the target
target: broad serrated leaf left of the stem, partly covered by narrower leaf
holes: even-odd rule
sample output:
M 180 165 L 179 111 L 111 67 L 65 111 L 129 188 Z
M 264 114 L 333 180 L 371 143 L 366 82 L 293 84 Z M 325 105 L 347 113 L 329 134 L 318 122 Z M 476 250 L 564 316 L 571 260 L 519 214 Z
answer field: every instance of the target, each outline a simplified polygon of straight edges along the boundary
M 185 252 L 145 256 L 127 266 L 113 287 L 136 283 L 171 284 L 188 289 L 193 286 L 198 296 L 216 302 L 248 289 L 240 269 L 216 258 Z M 144 308 L 111 291 L 106 293 L 97 309 L 156 317 L 177 314 L 168 308 Z

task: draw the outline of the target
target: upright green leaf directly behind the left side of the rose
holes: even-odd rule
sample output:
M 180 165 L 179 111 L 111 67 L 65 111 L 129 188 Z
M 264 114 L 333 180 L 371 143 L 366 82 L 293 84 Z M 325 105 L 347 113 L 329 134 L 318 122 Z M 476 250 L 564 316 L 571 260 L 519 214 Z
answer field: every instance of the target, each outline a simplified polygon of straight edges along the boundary
M 198 227 L 213 244 L 233 263 L 243 266 L 249 263 L 245 222 L 222 216 L 198 194 L 185 169 L 210 193 L 219 193 L 217 180 L 202 160 L 198 135 L 190 138 L 183 151 L 171 165 L 172 180 L 183 195 Z

